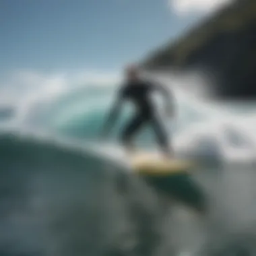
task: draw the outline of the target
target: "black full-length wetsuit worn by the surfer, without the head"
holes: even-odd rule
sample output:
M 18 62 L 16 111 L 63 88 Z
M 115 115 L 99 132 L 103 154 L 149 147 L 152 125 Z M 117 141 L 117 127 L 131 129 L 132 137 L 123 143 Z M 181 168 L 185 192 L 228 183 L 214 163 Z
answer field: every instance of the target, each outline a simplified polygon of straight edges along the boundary
M 168 135 L 156 115 L 154 104 L 150 98 L 150 94 L 154 90 L 160 90 L 163 92 L 164 96 L 167 97 L 168 103 L 172 102 L 170 92 L 160 85 L 143 80 L 127 82 L 127 84 L 124 84 L 119 91 L 117 104 L 115 104 L 111 112 L 108 123 L 112 124 L 113 121 L 115 121 L 121 103 L 124 100 L 130 100 L 135 104 L 137 113 L 135 113 L 123 129 L 121 133 L 121 141 L 125 143 L 125 145 L 129 145 L 137 131 L 139 131 L 143 125 L 150 124 L 154 129 L 158 144 L 161 146 L 162 150 L 166 153 L 170 153 L 171 150 L 168 146 Z

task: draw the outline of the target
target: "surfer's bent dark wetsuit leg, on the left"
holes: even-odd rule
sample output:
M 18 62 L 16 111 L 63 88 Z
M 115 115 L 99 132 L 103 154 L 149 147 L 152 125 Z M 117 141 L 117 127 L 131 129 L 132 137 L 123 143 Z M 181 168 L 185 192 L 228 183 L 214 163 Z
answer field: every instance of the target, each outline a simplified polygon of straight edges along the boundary
M 127 124 L 125 129 L 121 134 L 121 141 L 125 146 L 131 146 L 131 140 L 136 135 L 137 131 L 149 121 L 147 116 L 142 115 L 141 113 L 135 115 L 131 121 Z

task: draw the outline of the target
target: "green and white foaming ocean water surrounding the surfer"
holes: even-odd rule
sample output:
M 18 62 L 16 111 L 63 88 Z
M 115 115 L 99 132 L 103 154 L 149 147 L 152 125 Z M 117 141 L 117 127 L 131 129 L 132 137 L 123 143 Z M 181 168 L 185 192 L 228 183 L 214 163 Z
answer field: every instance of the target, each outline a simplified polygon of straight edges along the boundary
M 131 106 L 98 140 L 117 83 L 10 90 L 0 110 L 0 255 L 256 255 L 256 108 L 205 100 L 181 78 L 159 78 L 174 90 L 177 118 L 156 106 L 177 155 L 200 163 L 191 181 L 207 214 L 133 174 L 118 143 Z M 157 150 L 150 129 L 137 146 Z

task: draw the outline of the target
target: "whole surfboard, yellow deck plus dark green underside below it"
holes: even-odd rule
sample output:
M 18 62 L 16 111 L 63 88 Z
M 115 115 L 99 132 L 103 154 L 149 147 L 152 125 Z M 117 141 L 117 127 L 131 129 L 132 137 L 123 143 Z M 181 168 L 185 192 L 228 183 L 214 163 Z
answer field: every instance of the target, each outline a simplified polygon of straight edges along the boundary
M 185 159 L 168 159 L 154 152 L 133 152 L 130 162 L 135 174 L 159 193 L 177 199 L 203 212 L 205 197 L 201 188 L 191 179 L 191 172 L 197 164 Z

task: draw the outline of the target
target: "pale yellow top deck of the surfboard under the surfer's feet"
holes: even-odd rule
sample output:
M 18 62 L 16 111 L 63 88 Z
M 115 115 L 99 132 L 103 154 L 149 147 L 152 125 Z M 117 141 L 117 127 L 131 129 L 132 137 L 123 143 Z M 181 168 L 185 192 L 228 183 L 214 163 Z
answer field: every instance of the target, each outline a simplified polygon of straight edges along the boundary
M 135 172 L 144 175 L 172 175 L 188 172 L 195 167 L 189 160 L 167 159 L 154 153 L 137 152 L 131 156 L 131 165 Z

